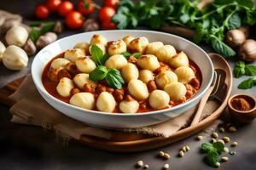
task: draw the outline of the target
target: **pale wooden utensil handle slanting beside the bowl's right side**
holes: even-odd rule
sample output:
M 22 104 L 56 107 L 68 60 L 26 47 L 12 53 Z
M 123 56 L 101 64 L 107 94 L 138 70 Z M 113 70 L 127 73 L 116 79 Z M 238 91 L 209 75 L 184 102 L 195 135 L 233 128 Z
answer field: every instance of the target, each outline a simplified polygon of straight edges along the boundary
M 194 126 L 200 121 L 202 111 L 204 110 L 205 105 L 207 104 L 207 100 L 209 99 L 210 95 L 212 94 L 214 86 L 211 86 L 208 90 L 207 93 L 201 98 L 201 101 L 198 105 L 197 111 L 195 112 L 195 116 L 193 121 L 191 122 L 190 126 Z

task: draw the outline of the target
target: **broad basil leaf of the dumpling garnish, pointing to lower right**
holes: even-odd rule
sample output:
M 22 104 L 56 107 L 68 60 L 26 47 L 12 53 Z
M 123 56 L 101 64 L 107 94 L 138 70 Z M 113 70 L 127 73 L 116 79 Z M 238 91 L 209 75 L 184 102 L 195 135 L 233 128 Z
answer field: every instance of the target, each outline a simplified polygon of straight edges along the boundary
M 119 89 L 123 87 L 123 84 L 125 84 L 125 81 L 120 71 L 113 68 L 108 69 L 105 80 L 111 88 Z

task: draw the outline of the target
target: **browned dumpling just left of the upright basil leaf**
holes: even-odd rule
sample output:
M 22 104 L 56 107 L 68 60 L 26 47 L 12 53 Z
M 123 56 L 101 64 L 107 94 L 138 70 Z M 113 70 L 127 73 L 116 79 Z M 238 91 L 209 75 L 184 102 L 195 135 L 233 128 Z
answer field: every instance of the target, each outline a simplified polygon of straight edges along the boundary
M 95 62 L 89 57 L 76 59 L 76 65 L 80 72 L 90 73 L 96 68 Z

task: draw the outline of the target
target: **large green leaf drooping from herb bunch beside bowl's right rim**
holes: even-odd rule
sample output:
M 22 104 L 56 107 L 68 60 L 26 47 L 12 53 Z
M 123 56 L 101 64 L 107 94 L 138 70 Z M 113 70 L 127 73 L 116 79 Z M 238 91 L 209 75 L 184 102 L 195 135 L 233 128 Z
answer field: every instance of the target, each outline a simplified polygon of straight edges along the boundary
M 212 38 L 212 48 L 224 57 L 236 55 L 236 52 L 230 48 L 230 46 L 219 40 L 217 37 Z

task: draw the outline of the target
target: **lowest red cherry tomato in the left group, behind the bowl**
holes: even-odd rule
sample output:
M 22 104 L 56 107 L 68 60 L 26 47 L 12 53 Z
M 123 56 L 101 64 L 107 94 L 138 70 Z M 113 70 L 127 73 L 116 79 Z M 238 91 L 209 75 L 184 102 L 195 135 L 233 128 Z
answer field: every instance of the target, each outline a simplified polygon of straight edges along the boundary
M 71 29 L 79 29 L 83 26 L 84 20 L 83 15 L 78 11 L 72 11 L 67 14 L 66 24 Z

